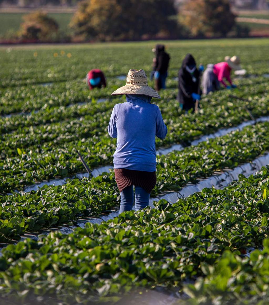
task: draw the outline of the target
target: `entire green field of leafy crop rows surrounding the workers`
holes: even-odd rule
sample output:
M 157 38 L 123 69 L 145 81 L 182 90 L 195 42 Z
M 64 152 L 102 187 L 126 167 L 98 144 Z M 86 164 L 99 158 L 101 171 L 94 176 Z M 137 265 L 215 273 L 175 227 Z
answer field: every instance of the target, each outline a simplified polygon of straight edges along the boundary
M 79 179 L 85 169 L 75 149 L 90 170 L 113 165 L 116 141 L 107 126 L 124 97 L 111 93 L 132 68 L 149 76 L 151 50 L 162 42 L 171 56 L 167 89 L 152 102 L 168 135 L 156 149 L 182 149 L 157 154 L 151 197 L 228 177 L 266 156 L 269 122 L 250 124 L 247 109 L 255 119 L 269 116 L 269 39 L 0 46 L 1 305 L 132 305 L 154 297 L 157 305 L 171 294 L 181 305 L 268 304 L 269 167 L 224 190 L 209 183 L 173 205 L 162 199 L 155 208 L 80 227 L 115 213 L 120 194 L 108 169 Z M 205 66 L 238 55 L 247 73 L 232 76 L 237 89 L 204 96 L 198 113 L 186 114 L 176 77 L 189 52 Z M 107 88 L 89 91 L 85 77 L 93 68 L 103 70 Z M 192 142 L 243 122 L 249 125 Z M 218 187 L 228 178 L 220 180 Z M 61 226 L 68 234 L 55 231 Z M 18 242 L 44 230 L 49 235 Z M 179 299 L 183 292 L 190 300 Z

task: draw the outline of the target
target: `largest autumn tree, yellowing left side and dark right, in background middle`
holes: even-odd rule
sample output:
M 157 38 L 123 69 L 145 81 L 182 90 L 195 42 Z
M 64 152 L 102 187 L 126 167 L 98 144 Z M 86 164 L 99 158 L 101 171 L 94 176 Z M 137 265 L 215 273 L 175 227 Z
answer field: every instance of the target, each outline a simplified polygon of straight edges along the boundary
M 172 0 L 84 0 L 71 26 L 87 39 L 140 39 L 160 32 L 172 34 L 176 22 Z

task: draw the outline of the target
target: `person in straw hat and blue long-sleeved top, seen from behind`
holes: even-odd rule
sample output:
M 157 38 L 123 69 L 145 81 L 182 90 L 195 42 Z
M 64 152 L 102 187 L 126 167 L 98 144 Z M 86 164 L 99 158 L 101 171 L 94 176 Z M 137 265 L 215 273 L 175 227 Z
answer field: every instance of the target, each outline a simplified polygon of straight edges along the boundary
M 164 139 L 167 127 L 160 109 L 151 99 L 160 95 L 148 86 L 144 70 L 131 69 L 126 86 L 112 95 L 126 95 L 126 102 L 112 110 L 108 133 L 117 138 L 114 153 L 115 178 L 120 190 L 120 213 L 149 205 L 149 196 L 156 185 L 155 136 Z

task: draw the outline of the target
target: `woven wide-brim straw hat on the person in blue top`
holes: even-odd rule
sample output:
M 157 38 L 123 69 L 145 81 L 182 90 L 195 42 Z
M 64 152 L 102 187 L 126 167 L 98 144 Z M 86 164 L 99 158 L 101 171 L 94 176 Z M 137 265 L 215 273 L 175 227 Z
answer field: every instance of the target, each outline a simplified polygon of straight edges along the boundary
M 127 74 L 126 85 L 118 88 L 111 95 L 142 94 L 160 99 L 160 95 L 148 86 L 148 78 L 144 70 L 131 69 Z

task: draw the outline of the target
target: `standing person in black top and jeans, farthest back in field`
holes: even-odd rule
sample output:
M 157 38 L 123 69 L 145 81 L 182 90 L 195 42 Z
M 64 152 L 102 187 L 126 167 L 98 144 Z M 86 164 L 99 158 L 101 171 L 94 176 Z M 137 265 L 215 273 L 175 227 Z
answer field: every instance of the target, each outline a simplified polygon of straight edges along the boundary
M 153 70 L 155 71 L 155 89 L 157 91 L 166 88 L 165 81 L 167 77 L 170 56 L 164 51 L 164 49 L 164 45 L 156 45 L 156 60 L 153 59 Z

